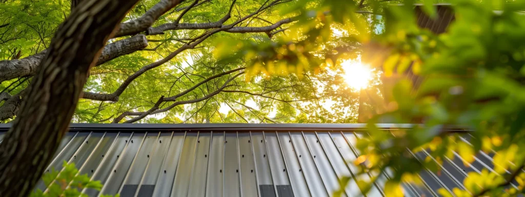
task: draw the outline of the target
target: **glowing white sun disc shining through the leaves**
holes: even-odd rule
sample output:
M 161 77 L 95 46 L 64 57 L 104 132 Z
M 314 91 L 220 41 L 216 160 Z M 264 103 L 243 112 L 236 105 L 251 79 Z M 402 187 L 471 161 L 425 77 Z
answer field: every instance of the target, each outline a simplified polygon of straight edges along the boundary
M 372 69 L 361 64 L 359 60 L 346 60 L 341 63 L 344 70 L 344 81 L 353 89 L 366 88 L 372 79 Z

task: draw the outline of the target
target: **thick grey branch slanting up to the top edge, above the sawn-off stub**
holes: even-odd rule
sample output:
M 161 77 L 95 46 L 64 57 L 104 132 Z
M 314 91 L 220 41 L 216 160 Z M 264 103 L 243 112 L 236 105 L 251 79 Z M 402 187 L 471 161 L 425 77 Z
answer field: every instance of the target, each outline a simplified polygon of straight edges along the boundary
M 159 3 L 151 7 L 140 18 L 131 20 L 120 24 L 119 33 L 116 37 L 134 35 L 144 32 L 148 27 L 151 27 L 155 20 L 157 20 L 164 13 L 180 4 L 183 0 L 161 0 Z

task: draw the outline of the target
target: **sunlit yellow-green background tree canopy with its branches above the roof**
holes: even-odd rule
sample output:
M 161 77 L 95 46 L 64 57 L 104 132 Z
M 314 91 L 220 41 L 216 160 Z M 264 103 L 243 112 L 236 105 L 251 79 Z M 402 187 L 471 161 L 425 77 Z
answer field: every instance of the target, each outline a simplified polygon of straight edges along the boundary
M 253 59 L 221 57 L 239 41 L 271 47 L 271 40 L 299 38 L 297 29 L 288 29 L 297 13 L 283 11 L 292 3 L 298 5 L 141 1 L 91 69 L 73 121 L 355 122 L 359 90 L 345 85 L 340 67 L 304 68 L 303 74 L 281 65 L 289 75 L 254 76 L 245 71 Z M 9 121 L 69 5 L 43 0 L 0 6 L 0 119 Z

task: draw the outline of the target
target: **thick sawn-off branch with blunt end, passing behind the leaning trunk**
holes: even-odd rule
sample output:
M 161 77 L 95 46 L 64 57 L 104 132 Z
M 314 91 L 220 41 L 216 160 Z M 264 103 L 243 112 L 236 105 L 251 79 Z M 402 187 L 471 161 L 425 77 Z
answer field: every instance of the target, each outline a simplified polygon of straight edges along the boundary
M 114 43 L 110 43 L 104 47 L 102 54 L 98 58 L 97 65 L 106 63 L 114 58 L 133 53 L 148 46 L 148 40 L 144 35 L 137 35 L 130 38 L 122 39 Z M 36 73 L 36 69 L 40 64 L 46 50 L 41 51 L 36 55 L 32 55 L 22 59 L 2 60 L 0 61 L 0 82 L 14 79 L 18 77 L 31 76 Z

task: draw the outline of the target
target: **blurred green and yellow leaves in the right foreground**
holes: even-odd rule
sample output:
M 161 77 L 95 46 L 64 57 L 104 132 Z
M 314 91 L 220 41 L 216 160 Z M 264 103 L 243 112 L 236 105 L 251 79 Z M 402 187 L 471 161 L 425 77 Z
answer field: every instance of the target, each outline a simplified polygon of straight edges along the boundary
M 394 5 L 394 3 L 396 3 Z M 385 88 L 388 107 L 369 121 L 359 140 L 362 157 L 353 161 L 371 174 L 358 185 L 365 192 L 381 174 L 387 196 L 403 196 L 402 183 L 421 183 L 426 169 L 442 173 L 444 162 L 459 155 L 472 167 L 478 154 L 493 156 L 493 170 L 469 172 L 465 188 L 443 188 L 443 196 L 515 196 L 525 182 L 525 2 L 458 0 L 446 5 L 455 19 L 436 35 L 416 23 L 414 5 L 434 19 L 434 1 L 298 1 L 287 11 L 299 12 L 290 29 L 267 45 L 241 44 L 237 51 L 254 60 L 254 76 L 274 68 L 326 69 L 342 59 L 360 57 L 398 77 Z M 381 16 L 381 17 L 376 17 Z M 378 30 L 379 29 L 379 30 Z M 334 36 L 335 32 L 341 33 Z M 299 35 L 299 36 L 297 36 Z M 291 44 L 293 43 L 293 44 Z M 295 50 L 294 50 L 295 49 Z M 298 50 L 299 49 L 299 50 Z M 290 56 L 290 54 L 293 54 Z M 290 57 L 290 58 L 285 58 Z M 306 58 L 306 60 L 303 60 Z M 422 80 L 415 84 L 403 74 Z M 383 81 L 384 82 L 384 81 Z M 377 103 L 379 105 L 379 103 Z M 374 123 L 417 123 L 404 130 L 380 130 Z M 424 152 L 418 159 L 413 153 Z M 515 183 L 512 181 L 515 180 Z M 352 181 L 341 180 L 341 188 Z M 342 191 L 337 192 L 341 194 Z

